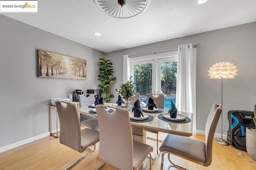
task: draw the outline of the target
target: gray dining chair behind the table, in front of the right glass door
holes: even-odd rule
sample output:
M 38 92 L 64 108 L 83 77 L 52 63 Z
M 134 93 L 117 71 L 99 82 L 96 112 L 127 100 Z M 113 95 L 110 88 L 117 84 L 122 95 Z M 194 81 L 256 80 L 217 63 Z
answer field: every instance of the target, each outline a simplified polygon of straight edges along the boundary
M 164 109 L 164 94 L 148 94 L 147 95 L 147 104 L 148 104 L 148 99 L 149 98 L 152 98 L 154 100 L 154 103 L 156 104 L 157 108 Z M 155 133 L 156 134 L 156 139 L 151 138 L 151 137 L 147 137 L 147 139 L 156 141 L 156 149 L 157 149 L 156 153 L 157 153 L 157 155 L 159 155 L 158 142 L 163 142 L 163 141 L 158 140 L 159 132 L 150 131 L 150 130 L 147 130 L 147 131 L 150 132 L 150 133 Z

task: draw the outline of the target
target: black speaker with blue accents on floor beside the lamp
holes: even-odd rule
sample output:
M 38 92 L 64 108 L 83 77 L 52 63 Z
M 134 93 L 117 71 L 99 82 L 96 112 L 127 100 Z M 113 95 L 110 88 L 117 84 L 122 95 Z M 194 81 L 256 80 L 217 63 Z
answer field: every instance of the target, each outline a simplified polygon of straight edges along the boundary
M 246 127 L 254 126 L 253 117 L 253 111 L 228 111 L 229 129 L 227 139 L 230 145 L 246 150 Z

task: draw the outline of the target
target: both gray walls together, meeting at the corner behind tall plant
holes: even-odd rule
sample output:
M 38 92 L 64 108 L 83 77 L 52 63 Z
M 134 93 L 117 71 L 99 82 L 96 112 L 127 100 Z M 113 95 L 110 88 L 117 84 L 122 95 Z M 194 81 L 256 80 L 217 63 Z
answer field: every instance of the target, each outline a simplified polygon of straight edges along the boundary
M 256 103 L 256 22 L 190 35 L 112 53 L 102 53 L 63 37 L 0 15 L 0 148 L 49 132 L 51 98 L 68 97 L 74 89 L 98 88 L 98 59 L 114 63 L 116 83 L 122 84 L 122 56 L 200 43 L 197 48 L 197 119 L 204 131 L 213 103 L 220 102 L 220 80 L 207 76 L 212 64 L 229 61 L 238 65 L 238 76 L 223 81 L 224 134 L 227 112 L 253 110 Z M 87 80 L 37 77 L 37 49 L 87 60 Z M 95 66 L 97 65 L 97 66 Z M 112 100 L 115 102 L 116 97 Z M 216 131 L 220 133 L 220 125 Z

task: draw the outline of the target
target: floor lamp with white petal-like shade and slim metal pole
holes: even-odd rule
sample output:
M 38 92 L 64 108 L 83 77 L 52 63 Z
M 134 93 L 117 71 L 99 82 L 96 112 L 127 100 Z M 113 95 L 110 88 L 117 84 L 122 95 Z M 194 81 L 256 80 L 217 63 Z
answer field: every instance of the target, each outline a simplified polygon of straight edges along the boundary
M 210 67 L 210 70 L 208 72 L 208 76 L 212 79 L 221 79 L 221 105 L 222 105 L 222 80 L 224 79 L 234 79 L 236 75 L 238 75 L 236 72 L 238 69 L 236 69 L 237 66 L 234 66 L 234 64 L 230 62 L 222 62 L 222 63 L 216 63 L 213 64 Z M 227 141 L 224 141 L 222 139 L 222 115 L 221 114 L 221 139 L 215 139 L 215 142 L 220 145 L 229 145 Z

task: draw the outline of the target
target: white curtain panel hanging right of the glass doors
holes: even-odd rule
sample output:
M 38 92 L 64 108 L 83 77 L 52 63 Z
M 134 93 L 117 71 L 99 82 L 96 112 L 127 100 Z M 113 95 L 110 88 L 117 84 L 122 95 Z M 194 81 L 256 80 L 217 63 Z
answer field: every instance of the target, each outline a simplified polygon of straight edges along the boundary
M 177 64 L 176 107 L 194 113 L 193 134 L 196 134 L 196 49 L 190 43 L 179 45 Z

